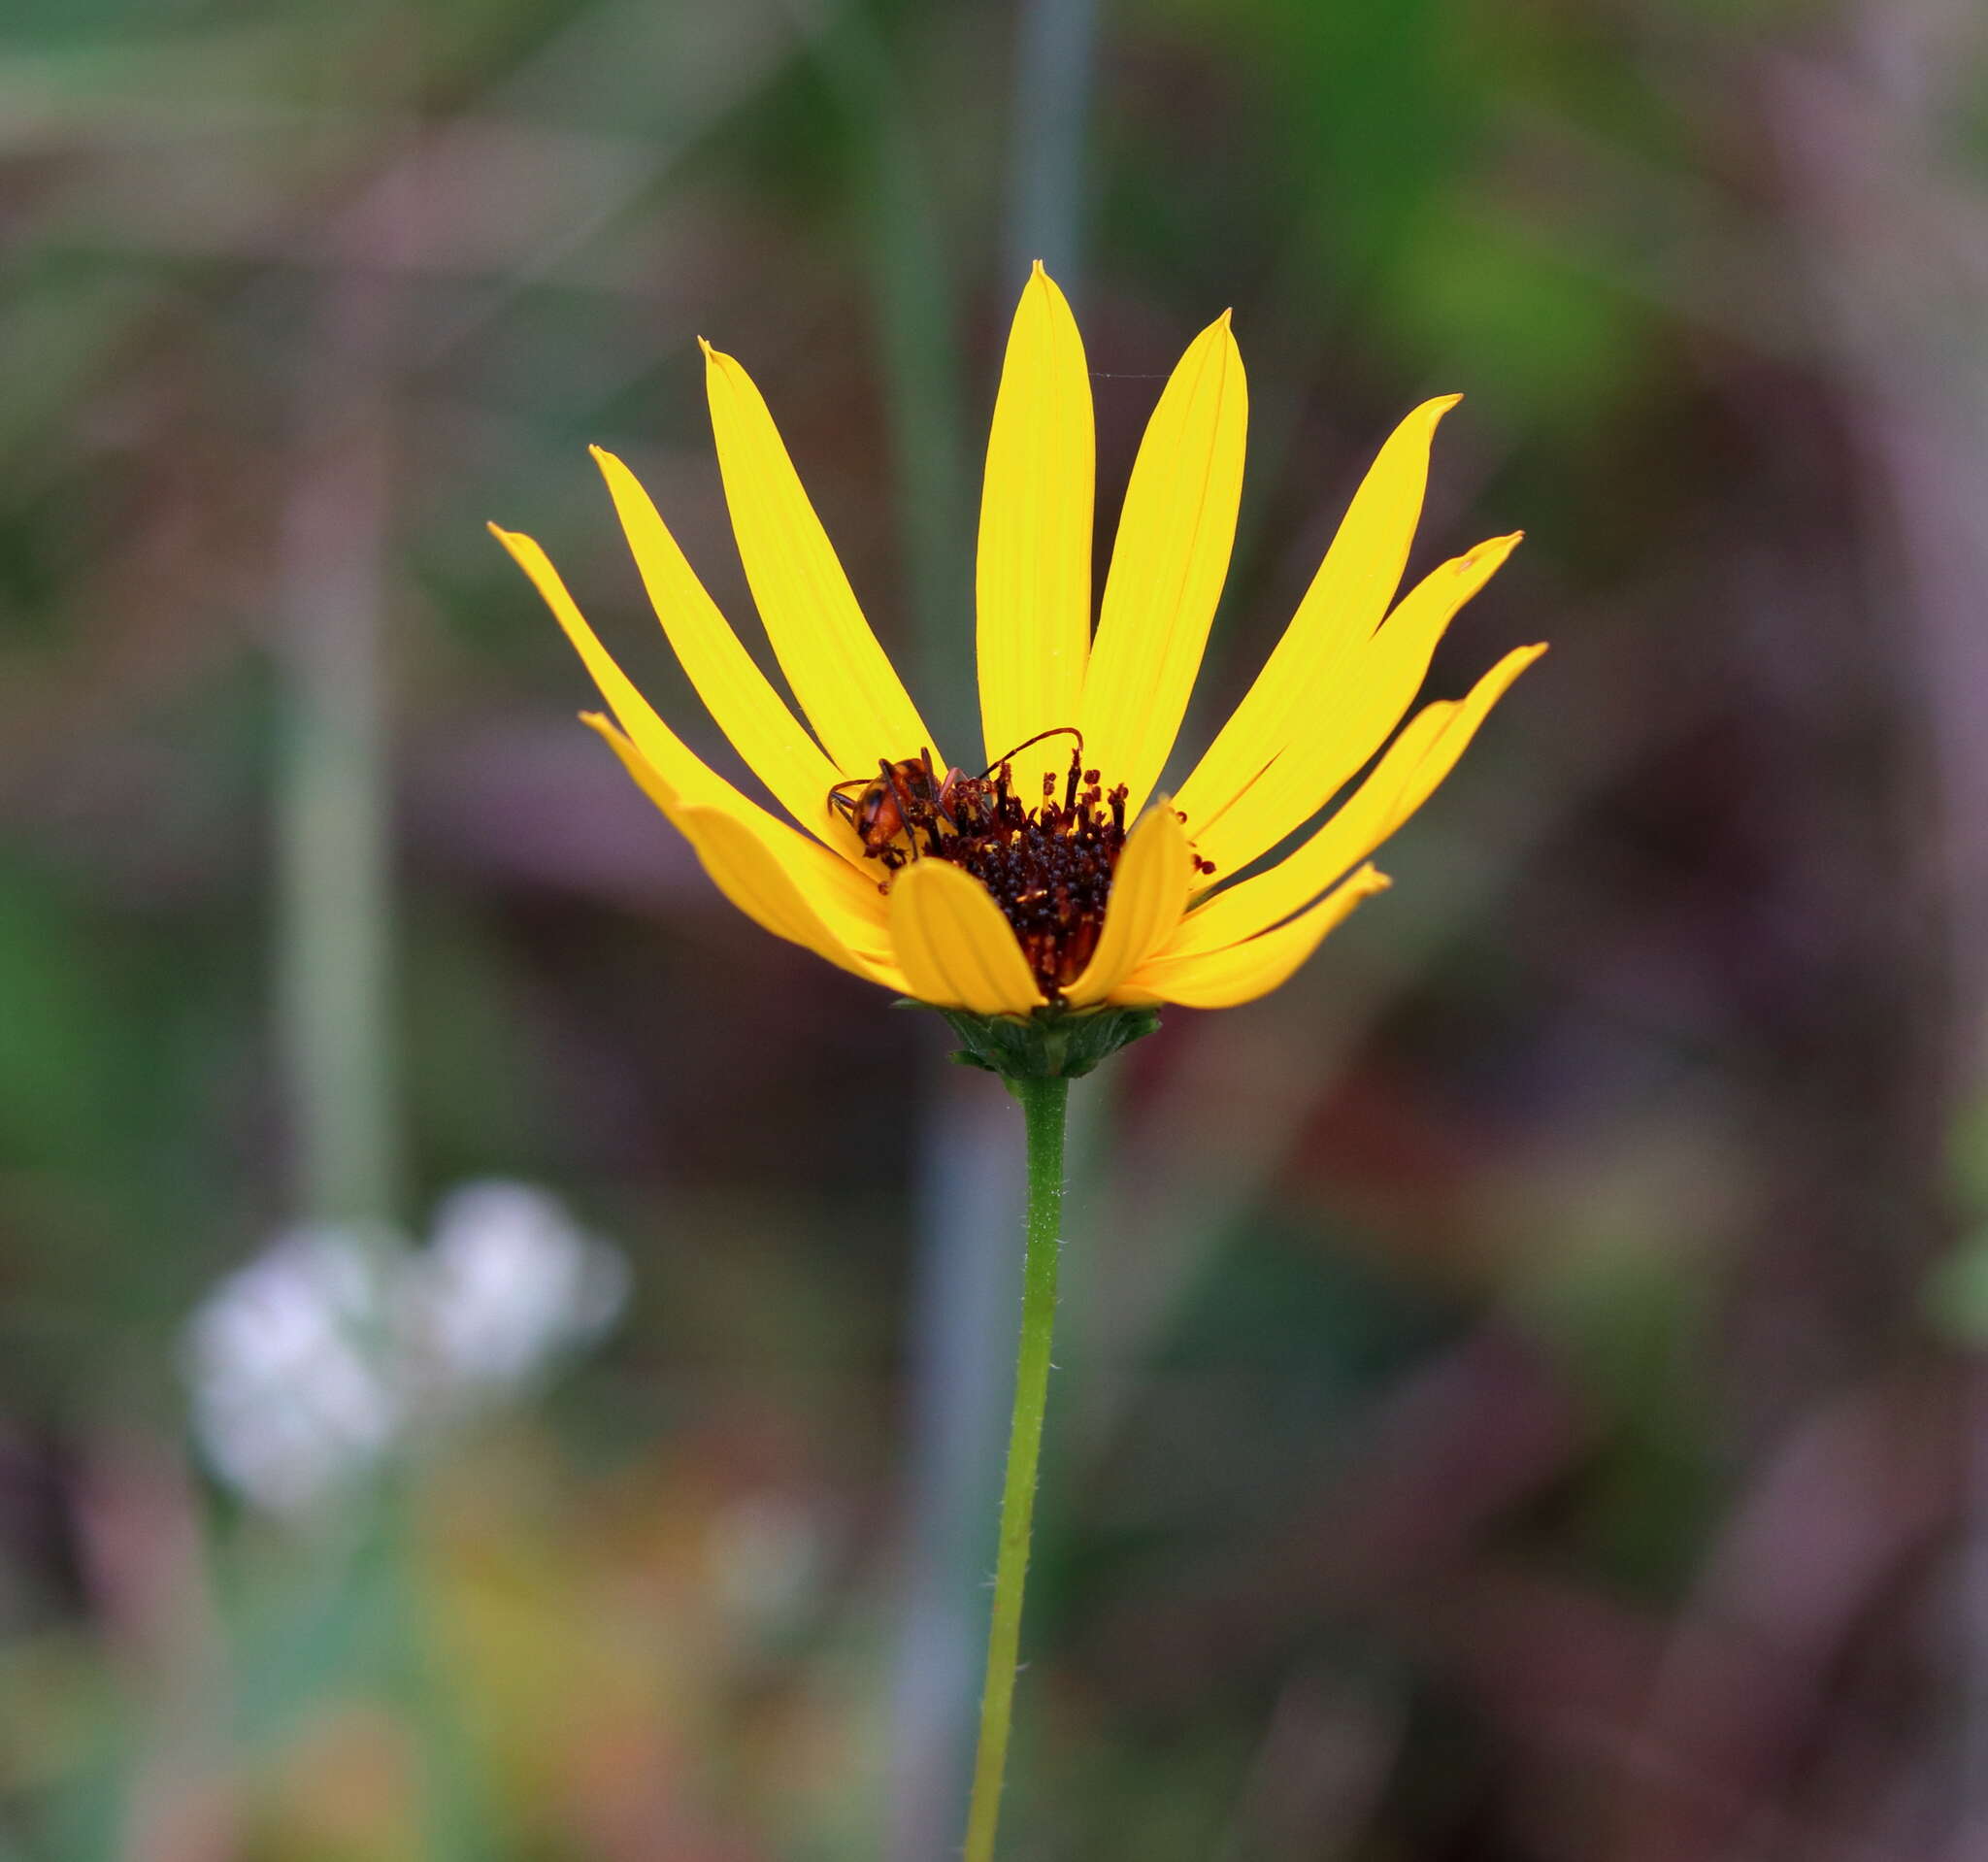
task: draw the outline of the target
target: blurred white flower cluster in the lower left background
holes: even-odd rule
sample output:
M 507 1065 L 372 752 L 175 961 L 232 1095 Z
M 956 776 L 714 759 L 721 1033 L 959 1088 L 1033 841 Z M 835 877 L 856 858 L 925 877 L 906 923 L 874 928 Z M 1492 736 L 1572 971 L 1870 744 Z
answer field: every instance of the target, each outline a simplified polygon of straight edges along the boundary
M 243 1498 L 306 1512 L 390 1449 L 529 1387 L 626 1300 L 620 1250 L 531 1184 L 465 1184 L 419 1248 L 296 1228 L 187 1321 L 193 1435 Z

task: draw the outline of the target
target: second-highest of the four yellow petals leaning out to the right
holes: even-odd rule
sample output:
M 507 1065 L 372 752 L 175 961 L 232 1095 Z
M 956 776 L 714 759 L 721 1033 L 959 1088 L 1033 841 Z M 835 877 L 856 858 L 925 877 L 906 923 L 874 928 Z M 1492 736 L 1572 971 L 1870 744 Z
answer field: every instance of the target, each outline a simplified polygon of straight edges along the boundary
M 1517 546 L 1519 535 L 1493 537 L 1425 574 L 1354 652 L 1336 694 L 1314 709 L 1304 733 L 1213 819 L 1187 817 L 1187 833 L 1215 862 L 1217 878 L 1304 827 L 1380 749 L 1413 703 L 1457 610 Z

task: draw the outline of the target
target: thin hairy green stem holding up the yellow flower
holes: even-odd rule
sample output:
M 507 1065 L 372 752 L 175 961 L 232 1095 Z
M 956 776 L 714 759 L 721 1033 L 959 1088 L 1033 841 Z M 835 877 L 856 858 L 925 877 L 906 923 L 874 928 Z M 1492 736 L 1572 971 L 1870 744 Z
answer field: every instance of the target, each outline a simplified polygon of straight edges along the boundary
M 1022 1586 L 1028 1580 L 1028 1528 L 1036 1512 L 1036 1463 L 1050 1401 L 1050 1331 L 1056 1325 L 1056 1234 L 1064 1212 L 1064 1107 L 1068 1079 L 1010 1079 L 1028 1127 L 1028 1250 L 1022 1258 L 1022 1347 L 1014 1367 L 1014 1423 L 1008 1431 L 1008 1478 L 1000 1496 L 1000 1558 L 994 1564 L 994 1622 L 988 1628 L 988 1679 L 980 1695 L 980 1751 L 966 1812 L 966 1862 L 994 1862 L 1002 1775 L 1008 1769 L 1008 1723 L 1022 1647 Z

